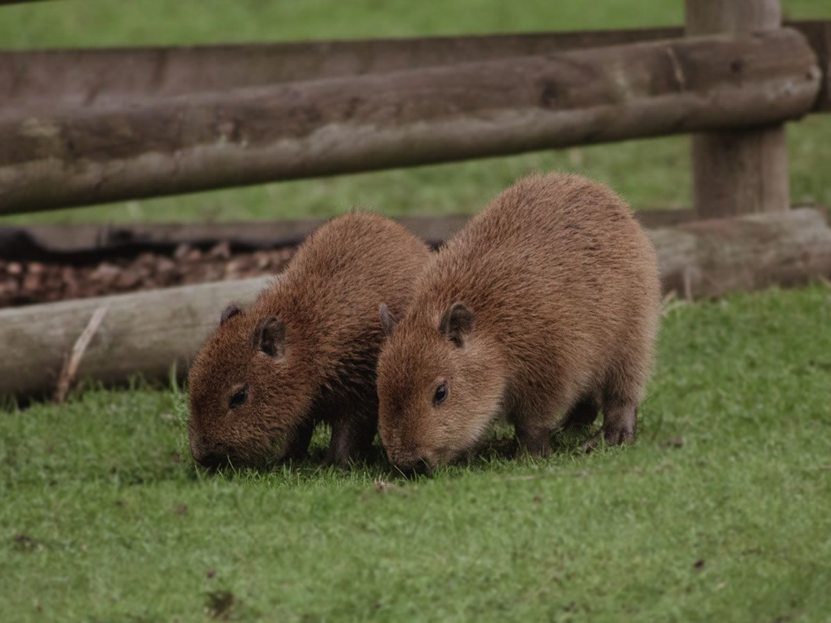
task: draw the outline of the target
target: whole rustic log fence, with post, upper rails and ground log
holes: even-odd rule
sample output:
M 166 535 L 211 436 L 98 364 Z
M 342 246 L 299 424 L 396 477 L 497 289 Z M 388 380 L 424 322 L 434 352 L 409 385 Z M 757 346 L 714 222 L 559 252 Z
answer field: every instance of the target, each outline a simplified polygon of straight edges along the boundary
M 0 214 L 689 133 L 694 209 L 721 220 L 651 233 L 665 288 L 802 282 L 831 272 L 831 229 L 789 211 L 783 124 L 829 86 L 831 21 L 783 25 L 778 0 L 688 0 L 685 29 L 0 52 Z M 16 356 L 46 353 L 5 357 L 0 393 L 50 386 L 101 307 L 121 312 L 81 375 L 158 375 L 250 287 L 0 311 Z M 190 320 L 154 350 L 163 309 Z

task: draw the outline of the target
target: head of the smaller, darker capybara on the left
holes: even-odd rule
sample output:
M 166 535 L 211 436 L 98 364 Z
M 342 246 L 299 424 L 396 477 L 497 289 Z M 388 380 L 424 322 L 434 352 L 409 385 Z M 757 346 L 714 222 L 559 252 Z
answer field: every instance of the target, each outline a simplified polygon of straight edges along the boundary
M 231 305 L 189 374 L 190 451 L 205 467 L 283 458 L 311 400 L 306 357 L 277 315 Z

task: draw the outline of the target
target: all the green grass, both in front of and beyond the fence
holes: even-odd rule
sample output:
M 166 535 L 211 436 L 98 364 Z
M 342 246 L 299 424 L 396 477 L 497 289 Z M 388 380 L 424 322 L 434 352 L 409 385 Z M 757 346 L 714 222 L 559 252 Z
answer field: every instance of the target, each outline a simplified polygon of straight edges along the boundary
M 831 18 L 826 0 L 783 5 Z M 681 20 L 680 0 L 76 0 L 0 7 L 0 48 Z M 831 115 L 789 126 L 789 158 L 794 202 L 831 204 Z M 690 203 L 676 137 L 0 223 L 470 213 L 533 169 L 588 174 L 636 207 Z M 415 482 L 381 461 L 205 475 L 188 459 L 177 390 L 7 406 L 0 619 L 829 621 L 829 326 L 820 285 L 671 306 L 635 446 L 584 456 L 581 438 L 560 436 L 551 459 L 494 452 Z

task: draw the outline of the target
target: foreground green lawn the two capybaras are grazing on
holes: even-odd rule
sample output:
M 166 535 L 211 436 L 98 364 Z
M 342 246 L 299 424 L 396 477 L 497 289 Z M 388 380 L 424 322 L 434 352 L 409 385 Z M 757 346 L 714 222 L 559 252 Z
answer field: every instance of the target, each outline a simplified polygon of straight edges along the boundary
M 823 286 L 673 307 L 635 446 L 587 457 L 564 438 L 552 459 L 413 483 L 383 464 L 204 476 L 174 460 L 173 391 L 7 410 L 0 611 L 828 621 L 829 326 Z

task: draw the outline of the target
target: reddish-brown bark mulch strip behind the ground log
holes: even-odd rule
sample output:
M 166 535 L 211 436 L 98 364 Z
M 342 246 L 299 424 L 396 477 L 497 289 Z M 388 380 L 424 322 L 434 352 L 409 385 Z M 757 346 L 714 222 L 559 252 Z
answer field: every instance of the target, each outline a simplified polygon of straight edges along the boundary
M 207 251 L 180 244 L 172 254 L 85 264 L 0 259 L 0 307 L 259 277 L 281 271 L 293 253 L 293 247 L 232 253 L 229 243 L 218 243 Z

